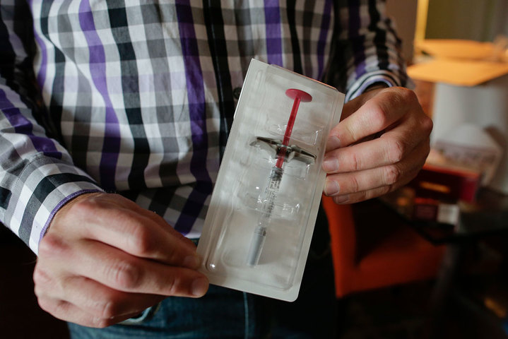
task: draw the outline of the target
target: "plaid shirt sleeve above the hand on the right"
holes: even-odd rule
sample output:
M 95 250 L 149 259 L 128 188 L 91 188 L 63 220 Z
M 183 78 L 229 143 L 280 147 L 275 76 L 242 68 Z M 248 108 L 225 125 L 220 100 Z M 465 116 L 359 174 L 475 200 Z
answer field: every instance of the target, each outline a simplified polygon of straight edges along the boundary
M 338 0 L 329 78 L 345 92 L 345 101 L 358 97 L 374 83 L 410 85 L 401 40 L 386 17 L 381 0 Z

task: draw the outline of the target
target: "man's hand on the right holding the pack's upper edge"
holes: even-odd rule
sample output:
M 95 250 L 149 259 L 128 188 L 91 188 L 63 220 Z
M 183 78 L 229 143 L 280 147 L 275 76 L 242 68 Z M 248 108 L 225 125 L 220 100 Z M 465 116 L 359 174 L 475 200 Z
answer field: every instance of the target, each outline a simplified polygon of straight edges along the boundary
M 418 174 L 430 150 L 432 120 L 413 91 L 371 90 L 344 105 L 326 143 L 324 194 L 355 203 L 386 194 Z

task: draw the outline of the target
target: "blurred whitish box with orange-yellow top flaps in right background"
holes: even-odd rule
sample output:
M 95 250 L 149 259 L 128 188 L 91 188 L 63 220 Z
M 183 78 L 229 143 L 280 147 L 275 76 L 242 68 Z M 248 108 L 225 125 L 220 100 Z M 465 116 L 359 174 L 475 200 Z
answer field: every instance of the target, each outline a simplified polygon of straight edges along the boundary
M 408 67 L 417 81 L 435 83 L 431 144 L 461 124 L 479 126 L 500 146 L 502 157 L 488 187 L 508 194 L 508 62 L 488 61 L 493 44 L 468 40 L 424 40 L 433 59 Z

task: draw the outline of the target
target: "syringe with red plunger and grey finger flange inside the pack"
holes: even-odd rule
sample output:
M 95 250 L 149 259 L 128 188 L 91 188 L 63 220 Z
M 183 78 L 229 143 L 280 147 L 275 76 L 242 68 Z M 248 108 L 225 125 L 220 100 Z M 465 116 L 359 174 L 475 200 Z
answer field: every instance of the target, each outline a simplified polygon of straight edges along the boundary
M 259 257 L 261 256 L 261 251 L 263 250 L 264 242 L 266 240 L 266 230 L 268 225 L 270 225 L 271 215 L 273 213 L 273 208 L 275 207 L 280 182 L 282 181 L 284 162 L 292 159 L 295 155 L 302 158 L 312 158 L 312 160 L 315 158 L 312 153 L 308 153 L 295 145 L 289 145 L 291 132 L 293 131 L 293 125 L 295 124 L 296 114 L 298 107 L 300 106 L 300 102 L 310 102 L 312 100 L 312 96 L 303 90 L 297 90 L 295 88 L 286 90 L 285 95 L 292 98 L 294 101 L 288 125 L 285 128 L 284 140 L 280 143 L 280 141 L 273 141 L 269 138 L 257 138 L 258 141 L 263 141 L 264 143 L 270 145 L 271 148 L 276 149 L 277 160 L 276 165 L 271 168 L 266 189 L 263 196 L 261 196 L 261 213 L 259 215 L 254 234 L 252 235 L 251 244 L 249 246 L 249 254 L 247 256 L 247 265 L 249 266 L 256 266 L 259 263 Z

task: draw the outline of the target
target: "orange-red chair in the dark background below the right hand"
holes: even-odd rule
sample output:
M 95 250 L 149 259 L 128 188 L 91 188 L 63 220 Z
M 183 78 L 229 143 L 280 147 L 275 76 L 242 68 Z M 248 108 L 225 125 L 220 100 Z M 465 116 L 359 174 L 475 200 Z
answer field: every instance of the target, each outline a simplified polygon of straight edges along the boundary
M 352 207 L 337 205 L 326 196 L 323 196 L 322 203 L 329 220 L 336 297 L 416 280 L 427 280 L 437 275 L 444 246 L 430 244 L 408 225 L 403 225 L 402 220 L 389 215 L 391 211 L 385 210 L 388 215 L 386 216 L 379 213 L 379 208 L 374 211 L 367 208 L 365 213 L 370 215 L 361 219 L 362 222 L 365 222 L 363 219 L 374 220 L 372 221 L 374 225 L 369 227 L 386 227 L 387 224 L 393 226 L 397 223 L 400 225 L 396 225 L 391 234 L 374 239 L 370 250 L 360 254 L 357 246 L 359 239 L 355 230 L 355 221 L 358 221 L 358 218 L 353 216 Z

